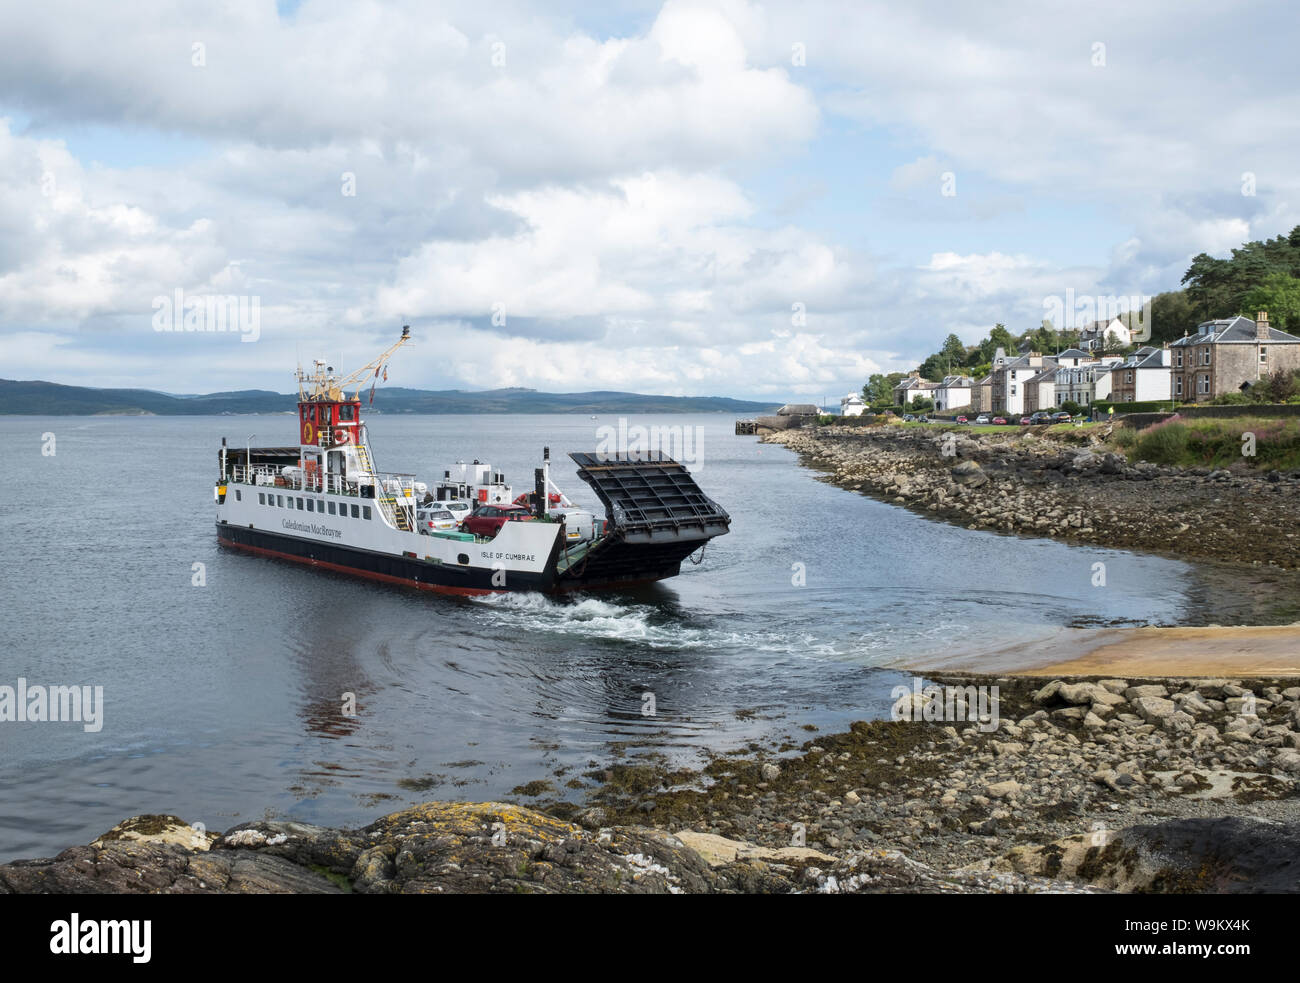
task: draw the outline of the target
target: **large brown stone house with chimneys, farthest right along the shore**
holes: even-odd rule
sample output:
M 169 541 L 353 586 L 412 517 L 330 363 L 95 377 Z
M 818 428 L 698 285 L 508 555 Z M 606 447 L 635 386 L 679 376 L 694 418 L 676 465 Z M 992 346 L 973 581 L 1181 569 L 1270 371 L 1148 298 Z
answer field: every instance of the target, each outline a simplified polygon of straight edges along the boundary
M 1169 347 L 1173 399 L 1184 403 L 1209 402 L 1274 372 L 1300 369 L 1300 338 L 1271 328 L 1266 311 L 1253 321 L 1242 316 L 1202 321 L 1196 334 L 1184 334 Z

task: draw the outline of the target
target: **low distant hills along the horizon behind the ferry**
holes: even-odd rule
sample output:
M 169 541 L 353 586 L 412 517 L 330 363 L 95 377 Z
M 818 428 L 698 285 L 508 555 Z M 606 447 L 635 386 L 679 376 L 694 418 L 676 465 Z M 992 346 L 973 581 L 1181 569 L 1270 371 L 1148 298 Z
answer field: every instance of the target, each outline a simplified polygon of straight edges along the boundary
M 363 402 L 365 397 L 363 394 Z M 213 416 L 294 412 L 296 395 L 248 389 L 207 395 L 170 395 L 150 389 L 87 389 L 56 382 L 0 378 L 0 415 L 27 416 Z M 538 393 L 536 389 L 374 390 L 373 413 L 764 413 L 777 403 L 727 397 L 663 397 L 641 393 Z

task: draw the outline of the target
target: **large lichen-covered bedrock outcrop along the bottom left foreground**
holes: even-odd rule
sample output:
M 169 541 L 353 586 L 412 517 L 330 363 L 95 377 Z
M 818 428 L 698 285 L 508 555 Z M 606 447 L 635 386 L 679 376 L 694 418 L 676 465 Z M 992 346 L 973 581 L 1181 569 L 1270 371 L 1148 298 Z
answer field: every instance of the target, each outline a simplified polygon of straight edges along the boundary
M 698 893 L 729 887 L 663 831 L 594 832 L 502 802 L 425 802 L 356 831 L 246 823 L 209 850 L 101 841 L 0 866 L 0 893 Z

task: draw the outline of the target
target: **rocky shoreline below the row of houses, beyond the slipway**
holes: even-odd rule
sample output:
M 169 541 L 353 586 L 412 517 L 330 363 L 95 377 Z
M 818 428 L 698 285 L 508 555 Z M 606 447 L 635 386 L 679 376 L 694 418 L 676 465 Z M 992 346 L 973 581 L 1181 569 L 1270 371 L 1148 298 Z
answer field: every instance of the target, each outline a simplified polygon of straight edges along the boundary
M 1222 623 L 1300 620 L 1300 471 L 1130 463 L 1110 428 L 820 426 L 764 436 L 826 480 L 968 529 L 1160 553 L 1230 570 L 1273 594 Z M 1243 592 L 1245 593 L 1245 592 Z M 1258 593 L 1258 592 L 1256 592 Z

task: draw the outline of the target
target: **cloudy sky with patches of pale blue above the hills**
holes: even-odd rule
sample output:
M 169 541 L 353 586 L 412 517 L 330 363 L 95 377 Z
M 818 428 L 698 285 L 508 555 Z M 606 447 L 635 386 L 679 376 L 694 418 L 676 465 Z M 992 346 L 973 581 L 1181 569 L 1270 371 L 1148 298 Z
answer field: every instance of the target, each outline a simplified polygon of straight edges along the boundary
M 411 324 L 394 385 L 838 395 L 1300 224 L 1297 23 L 0 0 L 0 377 L 289 391 Z

